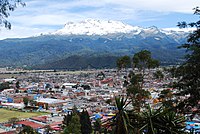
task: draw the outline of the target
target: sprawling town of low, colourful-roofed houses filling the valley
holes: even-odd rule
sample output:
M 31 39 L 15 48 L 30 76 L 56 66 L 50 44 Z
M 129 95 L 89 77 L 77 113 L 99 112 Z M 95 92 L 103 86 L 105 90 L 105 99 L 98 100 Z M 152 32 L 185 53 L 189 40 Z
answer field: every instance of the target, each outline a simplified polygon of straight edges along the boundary
M 155 101 L 158 94 L 173 82 L 173 78 L 165 74 L 163 80 L 153 78 L 151 70 L 145 79 L 144 88 L 151 92 L 150 103 Z M 60 131 L 64 115 L 71 112 L 74 106 L 78 110 L 86 109 L 91 120 L 100 118 L 102 121 L 112 118 L 117 108 L 115 96 L 126 96 L 124 81 L 130 70 L 117 71 L 90 70 L 80 72 L 36 71 L 23 72 L 14 78 L 2 78 L 0 82 L 9 82 L 9 89 L 0 93 L 0 106 L 15 108 L 28 112 L 48 112 L 48 115 L 22 119 L 15 128 L 8 123 L 1 123 L 0 133 L 20 131 L 21 126 L 30 126 L 39 133 L 45 133 L 47 126 L 53 131 Z M 17 86 L 16 83 L 19 85 Z M 28 99 L 25 104 L 24 98 Z

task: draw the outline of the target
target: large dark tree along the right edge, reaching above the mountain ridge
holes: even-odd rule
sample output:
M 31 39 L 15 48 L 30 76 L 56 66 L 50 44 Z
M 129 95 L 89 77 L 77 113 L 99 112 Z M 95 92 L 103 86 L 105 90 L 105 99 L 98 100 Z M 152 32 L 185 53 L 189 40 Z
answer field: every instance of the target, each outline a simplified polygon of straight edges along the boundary
M 195 15 L 200 15 L 199 7 L 194 10 Z M 174 85 L 178 89 L 177 95 L 182 96 L 182 99 L 179 99 L 179 108 L 182 111 L 188 107 L 200 109 L 200 20 L 188 24 L 182 22 L 178 26 L 196 28 L 189 35 L 188 43 L 181 46 L 181 48 L 186 48 L 189 53 L 186 56 L 186 62 L 177 69 L 178 82 Z

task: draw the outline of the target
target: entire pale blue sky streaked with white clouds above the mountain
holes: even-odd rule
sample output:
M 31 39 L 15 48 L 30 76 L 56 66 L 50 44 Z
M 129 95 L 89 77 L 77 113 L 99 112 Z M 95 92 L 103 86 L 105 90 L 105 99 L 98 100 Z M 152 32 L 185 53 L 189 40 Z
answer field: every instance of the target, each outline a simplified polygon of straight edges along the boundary
M 23 0 L 25 7 L 10 13 L 12 29 L 0 27 L 0 39 L 28 37 L 56 31 L 69 21 L 88 18 L 117 20 L 130 25 L 176 27 L 197 21 L 193 8 L 200 0 Z

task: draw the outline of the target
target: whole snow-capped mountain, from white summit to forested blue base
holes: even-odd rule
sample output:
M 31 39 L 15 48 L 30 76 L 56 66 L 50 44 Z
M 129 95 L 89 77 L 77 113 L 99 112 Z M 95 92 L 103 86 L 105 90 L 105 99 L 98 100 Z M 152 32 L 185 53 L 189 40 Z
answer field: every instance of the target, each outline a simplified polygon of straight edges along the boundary
M 189 33 L 157 27 L 133 27 L 118 21 L 69 22 L 54 33 L 0 40 L 0 66 L 27 65 L 36 69 L 115 67 L 117 57 L 147 49 L 162 64 L 183 60 Z

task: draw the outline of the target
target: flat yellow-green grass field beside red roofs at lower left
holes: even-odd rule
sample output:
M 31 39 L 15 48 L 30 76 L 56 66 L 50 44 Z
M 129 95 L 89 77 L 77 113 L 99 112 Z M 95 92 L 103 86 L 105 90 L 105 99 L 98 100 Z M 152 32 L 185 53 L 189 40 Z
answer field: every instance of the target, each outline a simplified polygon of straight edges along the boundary
M 19 111 L 12 111 L 7 109 L 0 109 L 0 122 L 9 121 L 11 118 L 17 117 L 18 119 L 22 118 L 30 118 L 34 116 L 46 115 L 48 113 L 43 112 L 19 112 Z

